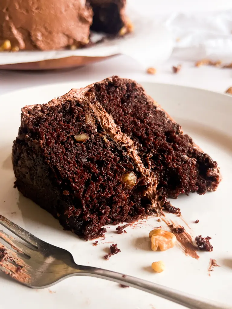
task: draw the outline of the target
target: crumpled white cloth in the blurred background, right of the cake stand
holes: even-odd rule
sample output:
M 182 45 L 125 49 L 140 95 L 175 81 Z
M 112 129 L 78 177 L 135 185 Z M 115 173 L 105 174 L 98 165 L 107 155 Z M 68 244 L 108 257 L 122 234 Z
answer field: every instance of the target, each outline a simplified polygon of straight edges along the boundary
M 232 10 L 158 16 L 174 40 L 173 57 L 232 62 Z

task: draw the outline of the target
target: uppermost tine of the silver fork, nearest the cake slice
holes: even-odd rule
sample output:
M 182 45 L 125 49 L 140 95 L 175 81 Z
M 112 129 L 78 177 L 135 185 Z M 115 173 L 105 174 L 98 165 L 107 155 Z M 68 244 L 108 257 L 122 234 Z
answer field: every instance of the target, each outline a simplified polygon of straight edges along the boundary
M 15 235 L 19 236 L 21 239 L 30 243 L 34 247 L 38 248 L 39 243 L 41 242 L 36 236 L 32 235 L 28 231 L 24 230 L 22 227 L 18 226 L 17 224 L 13 223 L 9 219 L 0 215 L 0 224 L 5 226 L 8 230 L 10 230 Z

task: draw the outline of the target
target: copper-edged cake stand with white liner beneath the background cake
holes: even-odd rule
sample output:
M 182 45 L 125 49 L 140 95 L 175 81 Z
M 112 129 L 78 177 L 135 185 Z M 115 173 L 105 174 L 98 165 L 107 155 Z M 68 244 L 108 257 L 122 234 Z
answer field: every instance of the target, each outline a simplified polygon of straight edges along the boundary
M 121 38 L 104 40 L 92 47 L 77 50 L 19 51 L 0 53 L 2 70 L 52 70 L 84 66 L 105 60 L 115 55 L 130 56 L 144 66 L 153 66 L 166 61 L 173 50 L 170 31 L 152 18 L 144 19 L 131 11 L 134 32 Z M 93 41 L 101 38 L 94 35 Z

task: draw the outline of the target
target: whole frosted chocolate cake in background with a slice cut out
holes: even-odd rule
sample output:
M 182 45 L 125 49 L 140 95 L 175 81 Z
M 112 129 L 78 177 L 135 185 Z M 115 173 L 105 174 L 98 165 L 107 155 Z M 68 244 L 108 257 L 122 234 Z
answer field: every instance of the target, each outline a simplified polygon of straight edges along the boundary
M 1 0 L 1 50 L 83 47 L 89 43 L 91 26 L 122 36 L 131 31 L 125 4 L 126 0 Z

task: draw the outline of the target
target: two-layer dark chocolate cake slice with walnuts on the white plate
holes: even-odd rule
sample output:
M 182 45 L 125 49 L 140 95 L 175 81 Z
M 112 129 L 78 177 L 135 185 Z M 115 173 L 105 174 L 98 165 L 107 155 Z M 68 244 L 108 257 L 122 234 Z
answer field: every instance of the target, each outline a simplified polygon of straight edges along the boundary
M 86 240 L 220 181 L 217 163 L 180 125 L 117 76 L 25 106 L 12 160 L 19 191 Z

